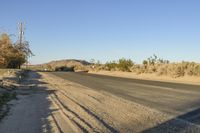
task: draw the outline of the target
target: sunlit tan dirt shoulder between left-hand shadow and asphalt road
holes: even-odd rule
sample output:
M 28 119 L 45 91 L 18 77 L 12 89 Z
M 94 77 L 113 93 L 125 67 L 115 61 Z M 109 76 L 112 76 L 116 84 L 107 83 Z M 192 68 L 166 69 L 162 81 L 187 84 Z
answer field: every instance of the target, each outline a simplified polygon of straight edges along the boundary
M 51 74 L 41 75 L 49 88 L 57 90 L 51 93 L 50 97 L 61 109 L 63 118 L 69 119 L 69 122 L 81 132 L 199 131 L 197 125 L 173 118 L 158 110 L 104 91 L 92 90 Z

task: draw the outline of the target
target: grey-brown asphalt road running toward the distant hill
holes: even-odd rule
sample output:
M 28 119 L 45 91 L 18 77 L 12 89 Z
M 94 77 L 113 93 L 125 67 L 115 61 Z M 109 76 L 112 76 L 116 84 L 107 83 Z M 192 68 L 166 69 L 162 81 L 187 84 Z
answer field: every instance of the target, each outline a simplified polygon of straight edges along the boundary
M 162 112 L 191 119 L 200 119 L 200 86 L 148 81 L 88 73 L 51 73 L 97 91 L 137 102 Z M 187 117 L 186 117 L 187 116 Z

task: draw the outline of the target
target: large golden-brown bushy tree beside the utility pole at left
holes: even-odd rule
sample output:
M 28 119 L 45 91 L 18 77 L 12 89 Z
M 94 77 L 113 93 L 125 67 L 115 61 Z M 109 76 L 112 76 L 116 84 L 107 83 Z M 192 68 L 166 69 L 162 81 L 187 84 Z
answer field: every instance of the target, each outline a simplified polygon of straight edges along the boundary
M 13 43 L 7 33 L 0 35 L 0 68 L 20 68 L 33 55 L 29 43 Z

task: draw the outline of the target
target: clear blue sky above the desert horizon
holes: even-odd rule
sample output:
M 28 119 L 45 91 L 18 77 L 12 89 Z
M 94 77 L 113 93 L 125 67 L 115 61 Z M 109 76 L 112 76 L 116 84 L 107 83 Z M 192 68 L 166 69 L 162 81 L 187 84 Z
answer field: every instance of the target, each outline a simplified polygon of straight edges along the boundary
M 200 62 L 199 0 L 0 0 L 0 30 L 26 22 L 31 63 L 157 54 Z M 12 37 L 14 40 L 17 37 Z

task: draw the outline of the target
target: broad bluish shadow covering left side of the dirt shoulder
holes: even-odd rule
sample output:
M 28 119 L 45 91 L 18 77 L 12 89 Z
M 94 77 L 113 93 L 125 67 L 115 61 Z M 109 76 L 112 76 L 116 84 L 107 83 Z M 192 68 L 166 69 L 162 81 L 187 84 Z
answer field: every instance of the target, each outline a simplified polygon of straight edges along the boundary
M 21 82 L 17 92 L 16 101 L 12 101 L 10 112 L 0 123 L 1 133 L 39 133 L 52 132 L 50 124 L 53 113 L 58 109 L 50 108 L 49 94 L 55 90 L 44 87 L 45 82 L 40 81 L 41 75 L 29 72 L 29 76 Z M 59 132 L 61 128 L 53 120 Z

